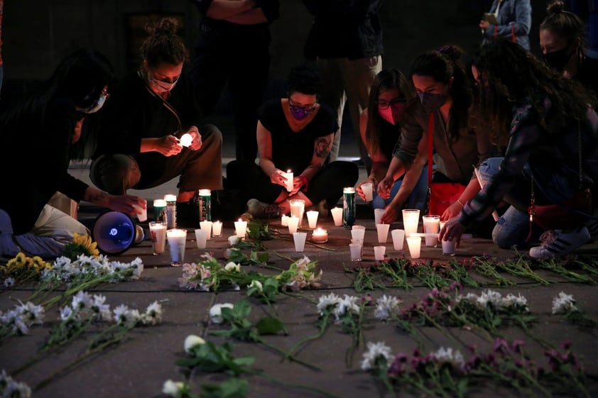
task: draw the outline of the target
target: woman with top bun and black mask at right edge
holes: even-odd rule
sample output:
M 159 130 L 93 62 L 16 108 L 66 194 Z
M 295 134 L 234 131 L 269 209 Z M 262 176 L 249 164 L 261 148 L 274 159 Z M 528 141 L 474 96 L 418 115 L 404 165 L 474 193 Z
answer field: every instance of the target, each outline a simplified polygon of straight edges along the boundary
M 598 94 L 598 59 L 587 56 L 585 24 L 563 6 L 562 1 L 549 4 L 548 16 L 540 23 L 540 49 L 544 61 L 565 77 L 577 79 Z

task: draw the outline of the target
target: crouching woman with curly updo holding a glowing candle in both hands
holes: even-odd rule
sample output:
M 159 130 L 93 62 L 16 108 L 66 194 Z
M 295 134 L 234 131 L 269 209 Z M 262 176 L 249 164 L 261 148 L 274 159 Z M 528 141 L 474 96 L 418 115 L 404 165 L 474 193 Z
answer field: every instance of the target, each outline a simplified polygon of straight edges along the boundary
M 114 89 L 100 123 L 89 177 L 101 189 L 157 187 L 180 176 L 178 219 L 199 223 L 198 189 L 222 189 L 222 133 L 202 126 L 202 115 L 183 63 L 187 50 L 175 34 L 176 20 L 147 26 L 141 69 Z M 186 137 L 190 138 L 185 143 Z

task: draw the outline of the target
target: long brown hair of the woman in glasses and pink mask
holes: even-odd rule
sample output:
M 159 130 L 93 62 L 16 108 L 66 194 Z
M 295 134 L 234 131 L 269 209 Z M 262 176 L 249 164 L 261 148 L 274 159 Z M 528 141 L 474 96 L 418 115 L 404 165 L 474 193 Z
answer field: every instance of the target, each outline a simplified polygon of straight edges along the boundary
M 378 153 L 381 149 L 381 119 L 382 116 L 376 111 L 378 108 L 378 96 L 387 90 L 397 89 L 399 96 L 403 96 L 407 101 L 416 98 L 413 84 L 408 81 L 405 75 L 397 69 L 381 70 L 374 82 L 371 84 L 367 109 L 368 118 L 366 126 L 366 141 L 370 150 L 370 155 Z

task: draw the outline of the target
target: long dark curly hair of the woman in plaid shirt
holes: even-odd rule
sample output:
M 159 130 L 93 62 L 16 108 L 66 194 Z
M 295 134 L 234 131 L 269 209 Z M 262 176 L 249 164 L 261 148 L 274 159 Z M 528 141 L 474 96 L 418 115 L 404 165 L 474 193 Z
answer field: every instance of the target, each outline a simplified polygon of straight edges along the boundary
M 482 112 L 490 119 L 490 138 L 495 145 L 509 140 L 513 105 L 531 101 L 538 123 L 546 133 L 549 125 L 564 123 L 565 118 L 582 120 L 588 106 L 596 99 L 574 79 L 551 70 L 521 45 L 509 40 L 496 40 L 478 50 L 472 60 L 478 71 L 477 93 Z M 550 100 L 548 113 L 545 100 Z

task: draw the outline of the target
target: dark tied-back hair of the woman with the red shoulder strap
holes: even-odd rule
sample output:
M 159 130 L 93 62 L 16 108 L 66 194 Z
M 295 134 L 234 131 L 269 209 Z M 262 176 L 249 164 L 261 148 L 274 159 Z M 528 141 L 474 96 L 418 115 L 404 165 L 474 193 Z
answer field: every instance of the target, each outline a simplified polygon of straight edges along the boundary
M 430 76 L 436 82 L 448 84 L 453 78 L 449 89 L 452 96 L 451 118 L 449 121 L 449 139 L 459 138 L 459 129 L 468 123 L 467 113 L 472 103 L 472 91 L 460 62 L 463 50 L 456 45 L 445 45 L 437 50 L 424 52 L 413 60 L 411 76 Z

